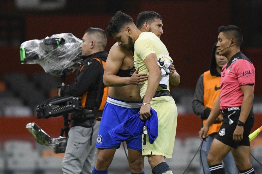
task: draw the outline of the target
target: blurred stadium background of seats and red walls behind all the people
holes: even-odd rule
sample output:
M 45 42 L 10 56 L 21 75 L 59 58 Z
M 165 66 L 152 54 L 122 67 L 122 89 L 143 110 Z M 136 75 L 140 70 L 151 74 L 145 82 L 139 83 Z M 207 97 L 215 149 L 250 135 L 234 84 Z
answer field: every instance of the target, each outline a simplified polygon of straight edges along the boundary
M 59 137 L 62 117 L 36 119 L 36 106 L 57 94 L 58 78 L 39 64 L 21 64 L 20 45 L 53 34 L 72 33 L 82 39 L 89 27 L 106 30 L 116 11 L 134 22 L 141 11 L 153 10 L 163 18 L 162 42 L 180 74 L 171 88 L 178 106 L 178 127 L 173 158 L 174 174 L 183 173 L 199 147 L 201 127 L 191 102 L 199 76 L 209 69 L 211 50 L 219 26 L 237 25 L 243 32 L 241 51 L 256 68 L 252 131 L 262 123 L 262 1 L 261 0 L 1 0 L 0 1 L 0 173 L 62 173 L 63 154 L 38 144 L 26 129 L 35 122 L 52 138 Z M 116 42 L 107 37 L 106 51 Z M 75 72 L 67 76 L 72 83 Z M 252 154 L 262 162 L 262 136 L 251 141 Z M 111 172 L 130 173 L 124 147 L 116 153 Z M 261 165 L 252 158 L 256 173 Z M 145 159 L 146 173 L 151 173 Z M 109 171 L 110 172 L 110 171 Z M 117 172 L 116 172 L 117 173 Z M 199 155 L 185 173 L 199 173 Z

